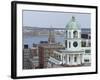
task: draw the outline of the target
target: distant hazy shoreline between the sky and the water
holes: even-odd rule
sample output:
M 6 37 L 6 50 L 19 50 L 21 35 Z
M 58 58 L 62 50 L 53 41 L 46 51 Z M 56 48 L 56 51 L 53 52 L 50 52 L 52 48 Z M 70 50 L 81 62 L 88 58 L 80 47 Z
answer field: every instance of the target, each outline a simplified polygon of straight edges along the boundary
M 55 36 L 64 36 L 65 28 L 39 28 L 39 27 L 23 27 L 23 35 L 29 36 L 48 36 L 49 31 L 53 31 Z M 82 33 L 91 33 L 91 28 L 82 28 Z

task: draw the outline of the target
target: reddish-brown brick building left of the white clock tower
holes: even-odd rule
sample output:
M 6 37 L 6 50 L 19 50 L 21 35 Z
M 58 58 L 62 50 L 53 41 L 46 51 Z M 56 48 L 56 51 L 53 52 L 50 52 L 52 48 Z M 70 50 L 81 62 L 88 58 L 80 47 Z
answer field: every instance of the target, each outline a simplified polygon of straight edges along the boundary
M 39 67 L 48 67 L 48 59 L 52 55 L 54 50 L 63 49 L 64 47 L 59 44 L 40 44 L 38 46 L 39 50 Z

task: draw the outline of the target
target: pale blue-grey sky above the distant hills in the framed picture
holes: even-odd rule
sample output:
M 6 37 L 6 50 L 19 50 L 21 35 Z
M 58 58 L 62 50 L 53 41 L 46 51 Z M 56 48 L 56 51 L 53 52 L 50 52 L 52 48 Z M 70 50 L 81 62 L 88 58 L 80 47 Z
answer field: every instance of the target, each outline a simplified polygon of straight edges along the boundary
M 80 28 L 90 28 L 91 14 L 89 13 L 65 13 L 50 11 L 23 11 L 23 26 L 30 27 L 54 27 L 65 28 L 67 23 L 75 16 Z

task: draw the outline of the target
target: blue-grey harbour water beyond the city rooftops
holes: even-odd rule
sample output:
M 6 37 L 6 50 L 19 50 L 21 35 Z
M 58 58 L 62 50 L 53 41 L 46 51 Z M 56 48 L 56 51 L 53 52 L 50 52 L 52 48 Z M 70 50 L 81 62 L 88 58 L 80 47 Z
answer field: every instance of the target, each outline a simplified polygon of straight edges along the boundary
M 34 44 L 39 44 L 40 41 L 48 41 L 48 36 L 32 36 L 24 35 L 23 36 L 23 45 L 27 44 L 29 48 Z M 64 36 L 55 36 L 55 41 L 58 43 L 64 43 Z

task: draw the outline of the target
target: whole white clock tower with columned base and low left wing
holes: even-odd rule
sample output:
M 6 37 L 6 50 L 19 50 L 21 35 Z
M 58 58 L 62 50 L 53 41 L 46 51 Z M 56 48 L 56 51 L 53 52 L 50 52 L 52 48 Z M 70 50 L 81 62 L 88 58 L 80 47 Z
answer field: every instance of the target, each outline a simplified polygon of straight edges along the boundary
M 65 28 L 65 49 L 55 50 L 53 58 L 60 59 L 55 61 L 50 58 L 50 62 L 64 66 L 81 66 L 84 63 L 84 49 L 81 47 L 81 29 L 80 25 L 72 16 Z

